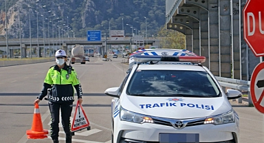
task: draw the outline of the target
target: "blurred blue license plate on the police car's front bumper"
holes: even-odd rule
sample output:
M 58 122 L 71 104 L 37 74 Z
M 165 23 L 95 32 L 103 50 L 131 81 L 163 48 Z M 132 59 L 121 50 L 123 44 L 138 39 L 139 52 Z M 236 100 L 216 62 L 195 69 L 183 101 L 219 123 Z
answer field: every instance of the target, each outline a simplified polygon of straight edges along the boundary
M 159 133 L 160 143 L 199 143 L 199 133 Z

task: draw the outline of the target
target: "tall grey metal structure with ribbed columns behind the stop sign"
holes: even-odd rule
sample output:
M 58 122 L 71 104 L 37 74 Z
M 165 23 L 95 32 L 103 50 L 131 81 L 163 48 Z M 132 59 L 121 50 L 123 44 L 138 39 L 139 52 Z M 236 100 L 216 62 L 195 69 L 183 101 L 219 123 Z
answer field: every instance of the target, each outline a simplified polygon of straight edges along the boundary
M 214 76 L 250 80 L 256 58 L 243 39 L 247 0 L 166 0 L 166 28 L 186 35 L 186 49 L 206 56 Z

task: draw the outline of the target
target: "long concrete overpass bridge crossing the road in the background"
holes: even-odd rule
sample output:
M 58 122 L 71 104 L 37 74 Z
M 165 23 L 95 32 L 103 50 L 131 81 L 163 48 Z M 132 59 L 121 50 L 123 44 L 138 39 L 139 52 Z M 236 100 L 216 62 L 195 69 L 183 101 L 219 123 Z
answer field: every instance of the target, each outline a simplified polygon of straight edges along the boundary
M 159 39 L 144 39 L 140 43 L 135 43 L 132 37 L 126 37 L 124 41 L 113 41 L 111 39 L 102 39 L 101 41 L 87 41 L 87 38 L 63 38 L 63 39 L 8 39 L 9 56 L 13 57 L 12 50 L 20 49 L 22 57 L 25 57 L 28 48 L 34 48 L 39 54 L 45 46 L 45 50 L 57 50 L 63 48 L 68 50 L 68 45 L 101 45 L 102 50 L 106 50 L 107 45 L 159 45 Z M 0 40 L 0 50 L 6 52 L 5 39 Z M 39 48 L 38 48 L 39 47 Z M 130 46 L 131 47 L 131 46 Z

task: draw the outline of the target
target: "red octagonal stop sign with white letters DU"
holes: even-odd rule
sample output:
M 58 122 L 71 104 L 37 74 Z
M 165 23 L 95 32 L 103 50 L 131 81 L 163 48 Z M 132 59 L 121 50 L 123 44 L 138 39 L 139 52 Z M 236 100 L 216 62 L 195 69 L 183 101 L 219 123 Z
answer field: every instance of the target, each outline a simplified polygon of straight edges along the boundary
M 264 56 L 264 2 L 248 0 L 243 8 L 244 39 L 255 56 Z

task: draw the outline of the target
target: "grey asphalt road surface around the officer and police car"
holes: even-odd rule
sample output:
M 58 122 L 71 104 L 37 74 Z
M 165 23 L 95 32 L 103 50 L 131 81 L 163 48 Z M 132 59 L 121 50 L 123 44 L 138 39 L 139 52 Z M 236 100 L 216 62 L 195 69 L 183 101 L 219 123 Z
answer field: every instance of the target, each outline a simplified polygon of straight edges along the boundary
M 111 58 L 111 57 L 110 57 Z M 90 57 L 85 65 L 73 65 L 83 87 L 83 108 L 89 119 L 91 130 L 76 132 L 73 142 L 111 142 L 111 97 L 104 94 L 109 87 L 118 87 L 126 76 L 128 65 L 124 58 L 111 58 L 102 61 Z M 5 143 L 47 143 L 50 137 L 42 140 L 28 140 L 26 131 L 31 129 L 34 113 L 34 100 L 42 89 L 45 74 L 54 62 L 30 65 L 0 67 L 0 142 Z M 75 102 L 76 104 L 76 102 Z M 264 143 L 264 115 L 254 107 L 232 102 L 240 118 L 240 143 Z M 75 110 L 75 108 L 74 108 Z M 50 129 L 50 112 L 47 101 L 40 102 L 43 129 Z M 72 116 L 74 115 L 74 111 Z M 60 140 L 65 142 L 60 126 Z

